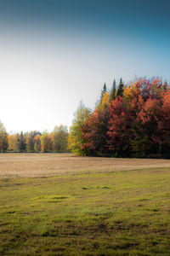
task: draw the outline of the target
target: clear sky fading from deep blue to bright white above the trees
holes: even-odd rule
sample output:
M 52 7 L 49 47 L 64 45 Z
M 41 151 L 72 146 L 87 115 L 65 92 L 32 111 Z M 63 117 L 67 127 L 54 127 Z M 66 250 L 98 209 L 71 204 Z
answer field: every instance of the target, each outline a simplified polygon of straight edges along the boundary
M 0 0 L 0 119 L 10 131 L 71 125 L 122 77 L 170 80 L 168 0 Z

